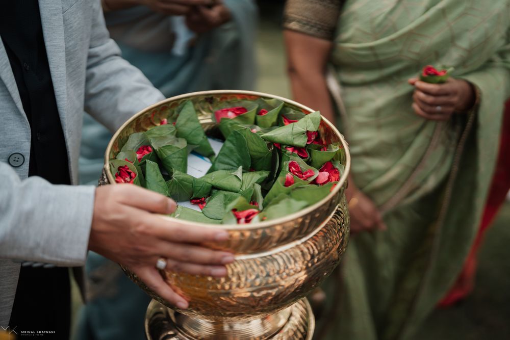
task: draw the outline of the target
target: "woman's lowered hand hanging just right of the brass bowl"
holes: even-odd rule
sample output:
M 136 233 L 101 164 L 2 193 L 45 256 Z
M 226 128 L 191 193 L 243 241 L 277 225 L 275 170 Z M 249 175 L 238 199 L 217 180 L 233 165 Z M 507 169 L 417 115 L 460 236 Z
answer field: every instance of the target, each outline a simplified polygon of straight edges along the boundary
M 356 234 L 361 231 L 386 230 L 382 216 L 377 206 L 367 195 L 354 187 L 349 179 L 349 187 L 345 192 L 349 202 L 350 232 Z

